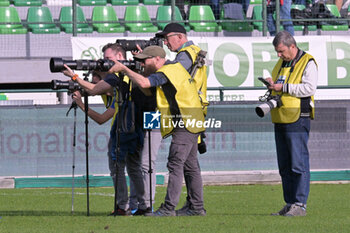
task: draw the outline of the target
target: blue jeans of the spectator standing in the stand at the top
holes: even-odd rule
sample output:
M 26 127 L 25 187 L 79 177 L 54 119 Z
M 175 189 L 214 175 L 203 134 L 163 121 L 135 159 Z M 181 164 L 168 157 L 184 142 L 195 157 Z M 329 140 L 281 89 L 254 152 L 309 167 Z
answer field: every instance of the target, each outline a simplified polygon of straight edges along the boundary
M 277 0 L 279 1 L 279 0 Z M 292 5 L 292 0 L 284 0 L 283 5 L 280 6 L 280 18 L 281 19 L 291 19 L 290 16 L 290 8 Z M 270 32 L 271 36 L 276 35 L 276 21 L 273 18 L 273 15 L 276 11 L 276 6 L 268 6 L 267 8 L 267 28 Z M 283 25 L 284 30 L 289 32 L 292 36 L 294 36 L 294 27 L 292 21 L 282 21 L 281 25 Z

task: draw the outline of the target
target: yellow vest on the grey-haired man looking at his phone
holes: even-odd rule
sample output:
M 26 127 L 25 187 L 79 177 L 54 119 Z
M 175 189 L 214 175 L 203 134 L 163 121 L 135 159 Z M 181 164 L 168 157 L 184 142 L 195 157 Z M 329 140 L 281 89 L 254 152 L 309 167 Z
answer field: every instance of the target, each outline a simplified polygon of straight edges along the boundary
M 293 71 L 291 71 L 291 67 L 281 67 L 283 60 L 279 59 L 276 66 L 272 71 L 272 79 L 274 82 L 277 80 L 284 80 L 284 83 L 289 84 L 299 84 L 301 83 L 301 79 L 303 77 L 304 70 L 306 65 L 310 60 L 314 60 L 314 58 L 305 53 L 299 61 L 295 64 Z M 289 93 L 281 93 L 272 91 L 272 95 L 281 95 L 282 106 L 278 108 L 274 108 L 271 110 L 271 120 L 273 123 L 293 123 L 296 122 L 300 117 L 301 112 L 301 101 L 300 98 L 291 96 Z M 314 97 L 311 96 L 312 100 L 312 111 L 310 113 L 311 119 L 314 118 L 315 110 L 314 110 Z

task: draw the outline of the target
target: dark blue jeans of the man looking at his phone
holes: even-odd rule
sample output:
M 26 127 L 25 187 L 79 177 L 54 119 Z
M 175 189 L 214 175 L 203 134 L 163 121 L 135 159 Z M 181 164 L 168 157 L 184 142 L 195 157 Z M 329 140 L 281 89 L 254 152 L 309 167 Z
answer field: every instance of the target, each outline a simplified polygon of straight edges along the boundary
M 287 204 L 304 204 L 310 192 L 310 164 L 307 142 L 310 118 L 291 124 L 275 124 L 278 169 Z

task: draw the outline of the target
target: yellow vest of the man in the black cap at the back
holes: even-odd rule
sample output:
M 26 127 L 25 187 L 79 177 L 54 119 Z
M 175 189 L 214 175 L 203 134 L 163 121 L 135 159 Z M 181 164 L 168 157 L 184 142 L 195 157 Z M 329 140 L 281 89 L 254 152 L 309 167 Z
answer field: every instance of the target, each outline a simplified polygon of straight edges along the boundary
M 192 64 L 196 61 L 197 55 L 201 49 L 196 45 L 190 45 L 182 48 L 179 52 L 186 51 L 191 56 Z M 196 85 L 198 96 L 201 101 L 204 115 L 207 115 L 207 66 L 203 66 L 197 70 L 194 76 L 194 83 Z

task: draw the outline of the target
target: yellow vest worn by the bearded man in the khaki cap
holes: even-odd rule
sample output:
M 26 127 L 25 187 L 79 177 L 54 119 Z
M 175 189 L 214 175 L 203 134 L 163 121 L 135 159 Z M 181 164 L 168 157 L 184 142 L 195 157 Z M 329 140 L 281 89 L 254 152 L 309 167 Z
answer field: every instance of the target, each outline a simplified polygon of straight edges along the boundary
M 202 105 L 198 98 L 196 85 L 190 82 L 189 73 L 180 63 L 164 65 L 157 72 L 163 73 L 176 91 L 175 96 L 171 96 L 175 103 L 171 103 L 170 106 L 169 99 L 164 94 L 164 91 L 167 90 L 163 90 L 167 84 L 157 87 L 157 107 L 161 112 L 162 136 L 169 136 L 174 130 L 174 124 L 186 128 L 191 133 L 203 132 L 205 129 Z M 174 116 L 171 109 L 178 110 L 180 116 Z M 174 118 L 181 118 L 182 123 L 181 121 L 173 122 Z

